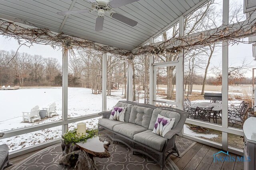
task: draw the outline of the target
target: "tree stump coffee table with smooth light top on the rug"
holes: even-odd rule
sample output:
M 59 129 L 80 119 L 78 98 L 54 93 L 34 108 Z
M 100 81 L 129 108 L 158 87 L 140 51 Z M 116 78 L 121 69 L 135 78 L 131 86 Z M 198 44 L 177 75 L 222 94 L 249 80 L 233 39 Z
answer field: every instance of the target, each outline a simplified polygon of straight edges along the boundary
M 85 143 L 64 143 L 62 140 L 62 158 L 60 164 L 75 166 L 75 170 L 97 170 L 93 157 L 108 158 L 110 142 L 102 141 L 99 137 L 87 139 Z

